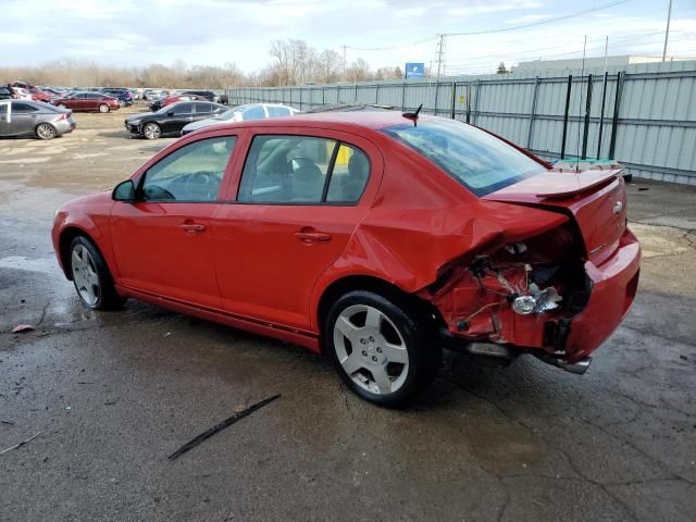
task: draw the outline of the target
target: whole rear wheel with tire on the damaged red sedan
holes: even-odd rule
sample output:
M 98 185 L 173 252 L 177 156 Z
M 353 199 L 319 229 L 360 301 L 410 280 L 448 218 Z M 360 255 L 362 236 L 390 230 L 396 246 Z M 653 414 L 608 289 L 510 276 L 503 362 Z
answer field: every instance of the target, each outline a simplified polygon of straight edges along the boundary
M 395 407 L 437 374 L 442 346 L 431 330 L 411 307 L 371 291 L 351 291 L 328 313 L 324 348 L 356 394 Z

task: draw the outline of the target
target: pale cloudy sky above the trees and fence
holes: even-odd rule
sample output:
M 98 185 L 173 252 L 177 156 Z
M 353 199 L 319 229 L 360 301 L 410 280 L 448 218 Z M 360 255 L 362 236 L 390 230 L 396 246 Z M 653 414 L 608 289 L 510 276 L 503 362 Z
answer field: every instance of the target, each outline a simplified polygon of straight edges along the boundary
M 616 2 L 617 0 L 614 0 Z M 77 59 L 100 64 L 235 63 L 251 73 L 271 62 L 270 42 L 302 39 L 373 69 L 436 63 L 444 73 L 494 72 L 538 59 L 661 55 L 668 0 L 630 0 L 582 16 L 559 16 L 612 0 L 0 0 L 1 66 Z M 525 28 L 520 26 L 532 25 Z M 12 49 L 12 52 L 7 52 Z M 668 55 L 696 57 L 696 0 L 673 0 Z M 436 65 L 434 65 L 436 66 Z

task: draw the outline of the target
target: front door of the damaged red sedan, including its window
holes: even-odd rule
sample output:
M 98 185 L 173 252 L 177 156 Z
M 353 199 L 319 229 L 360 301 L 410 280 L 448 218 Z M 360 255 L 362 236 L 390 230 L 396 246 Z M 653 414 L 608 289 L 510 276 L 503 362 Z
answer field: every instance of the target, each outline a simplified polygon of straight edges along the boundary
M 220 308 L 212 238 L 235 141 L 222 136 L 179 147 L 136 181 L 135 203 L 114 203 L 119 285 Z

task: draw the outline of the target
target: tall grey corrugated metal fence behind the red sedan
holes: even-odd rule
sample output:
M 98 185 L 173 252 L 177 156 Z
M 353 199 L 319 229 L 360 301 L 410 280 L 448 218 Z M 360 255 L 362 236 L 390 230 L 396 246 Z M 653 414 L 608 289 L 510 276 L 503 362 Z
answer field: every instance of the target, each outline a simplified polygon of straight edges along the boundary
M 609 158 L 696 185 L 696 61 L 428 80 L 240 87 L 229 103 L 375 103 L 457 119 L 547 158 Z

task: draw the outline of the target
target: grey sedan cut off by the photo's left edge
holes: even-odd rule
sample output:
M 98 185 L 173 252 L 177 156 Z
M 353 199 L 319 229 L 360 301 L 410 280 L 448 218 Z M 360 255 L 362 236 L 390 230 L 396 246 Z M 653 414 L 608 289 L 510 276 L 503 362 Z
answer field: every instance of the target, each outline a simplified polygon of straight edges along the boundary
M 36 136 L 53 139 L 77 126 L 69 109 L 28 100 L 0 101 L 0 136 Z

